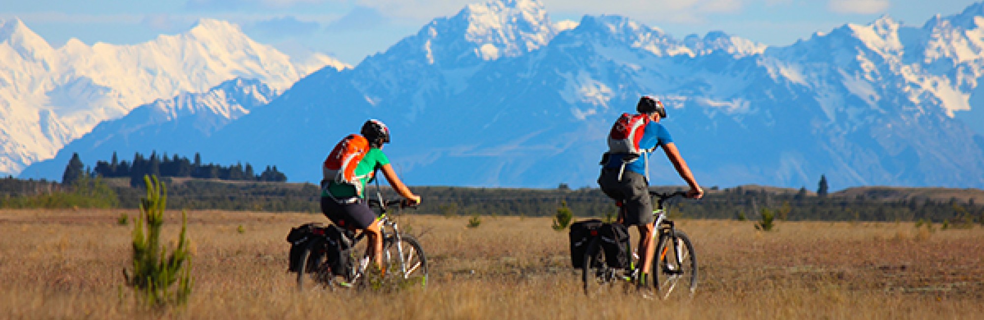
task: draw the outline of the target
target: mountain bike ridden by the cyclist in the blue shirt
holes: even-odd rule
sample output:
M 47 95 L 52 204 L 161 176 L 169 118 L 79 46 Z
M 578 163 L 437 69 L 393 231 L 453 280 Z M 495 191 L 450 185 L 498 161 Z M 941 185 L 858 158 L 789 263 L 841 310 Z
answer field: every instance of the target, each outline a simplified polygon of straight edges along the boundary
M 686 233 L 676 228 L 676 225 L 666 218 L 664 203 L 676 196 L 686 196 L 683 191 L 659 193 L 649 191 L 649 195 L 657 198 L 652 215 L 655 217 L 656 231 L 653 239 L 657 239 L 652 270 L 649 272 L 652 281 L 646 286 L 652 286 L 662 298 L 673 295 L 692 297 L 697 290 L 698 264 L 694 253 L 694 244 Z M 593 233 L 592 233 L 593 235 Z M 594 236 L 584 251 L 582 265 L 582 281 L 584 293 L 590 294 L 598 288 L 618 282 L 636 284 L 642 276 L 640 255 L 627 247 L 632 253 L 632 262 L 628 269 L 611 268 L 605 263 L 604 251 L 601 250 L 600 236 Z

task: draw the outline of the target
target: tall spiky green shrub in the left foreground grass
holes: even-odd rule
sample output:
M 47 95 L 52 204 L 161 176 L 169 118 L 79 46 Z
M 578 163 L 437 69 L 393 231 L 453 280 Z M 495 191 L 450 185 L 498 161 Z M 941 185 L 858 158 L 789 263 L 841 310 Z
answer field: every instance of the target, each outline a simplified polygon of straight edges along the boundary
M 123 270 L 126 284 L 150 306 L 183 304 L 191 294 L 191 255 L 188 251 L 188 215 L 181 212 L 181 232 L 170 254 L 160 244 L 167 192 L 156 176 L 144 176 L 147 198 L 133 228 L 133 271 Z M 174 286 L 177 288 L 172 288 Z M 172 290 L 173 289 L 173 290 Z

